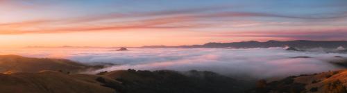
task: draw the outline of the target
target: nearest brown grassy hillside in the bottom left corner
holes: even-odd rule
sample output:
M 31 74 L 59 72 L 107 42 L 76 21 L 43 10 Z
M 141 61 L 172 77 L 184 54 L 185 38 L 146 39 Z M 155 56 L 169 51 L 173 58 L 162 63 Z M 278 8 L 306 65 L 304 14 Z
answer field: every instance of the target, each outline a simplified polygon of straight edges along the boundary
M 55 71 L 0 74 L 1 93 L 115 93 L 96 81 L 100 76 Z M 107 81 L 117 83 L 112 79 Z

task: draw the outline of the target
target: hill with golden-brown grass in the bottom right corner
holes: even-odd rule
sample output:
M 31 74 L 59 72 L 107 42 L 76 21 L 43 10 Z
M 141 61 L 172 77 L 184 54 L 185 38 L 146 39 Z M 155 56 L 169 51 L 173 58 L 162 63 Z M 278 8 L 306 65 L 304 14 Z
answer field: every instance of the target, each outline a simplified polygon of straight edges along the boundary
M 323 72 L 319 74 L 289 76 L 280 81 L 266 83 L 259 81 L 256 93 L 346 93 L 347 70 Z

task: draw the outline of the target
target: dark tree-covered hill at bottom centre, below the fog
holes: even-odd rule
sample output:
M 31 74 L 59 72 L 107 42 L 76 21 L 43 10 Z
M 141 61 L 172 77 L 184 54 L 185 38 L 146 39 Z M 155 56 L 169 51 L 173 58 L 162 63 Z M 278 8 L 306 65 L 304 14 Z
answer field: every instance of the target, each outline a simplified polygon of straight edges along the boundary
M 245 92 L 252 86 L 246 81 L 237 81 L 214 72 L 195 70 L 185 73 L 117 70 L 105 72 L 103 76 L 122 82 L 120 87 L 106 83 L 122 93 L 237 93 Z

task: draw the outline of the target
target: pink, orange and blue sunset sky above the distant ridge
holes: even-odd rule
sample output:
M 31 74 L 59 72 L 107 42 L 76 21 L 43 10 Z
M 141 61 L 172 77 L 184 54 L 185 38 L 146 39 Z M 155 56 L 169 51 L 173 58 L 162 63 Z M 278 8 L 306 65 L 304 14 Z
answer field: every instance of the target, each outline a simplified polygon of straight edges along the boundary
M 347 40 L 346 0 L 0 0 L 0 48 Z

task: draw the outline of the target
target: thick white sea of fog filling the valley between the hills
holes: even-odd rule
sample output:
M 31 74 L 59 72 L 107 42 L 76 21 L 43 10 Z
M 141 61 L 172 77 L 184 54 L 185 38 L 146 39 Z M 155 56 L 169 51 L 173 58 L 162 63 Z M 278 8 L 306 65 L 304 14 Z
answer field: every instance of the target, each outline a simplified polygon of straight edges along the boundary
M 40 58 L 62 58 L 92 65 L 112 64 L 111 70 L 208 70 L 226 75 L 245 75 L 258 78 L 312 74 L 337 70 L 328 63 L 335 56 L 347 54 L 322 52 L 289 52 L 283 48 L 130 48 L 115 51 L 110 48 L 21 48 L 1 49 L 0 54 L 17 54 Z M 311 56 L 312 58 L 293 58 Z

